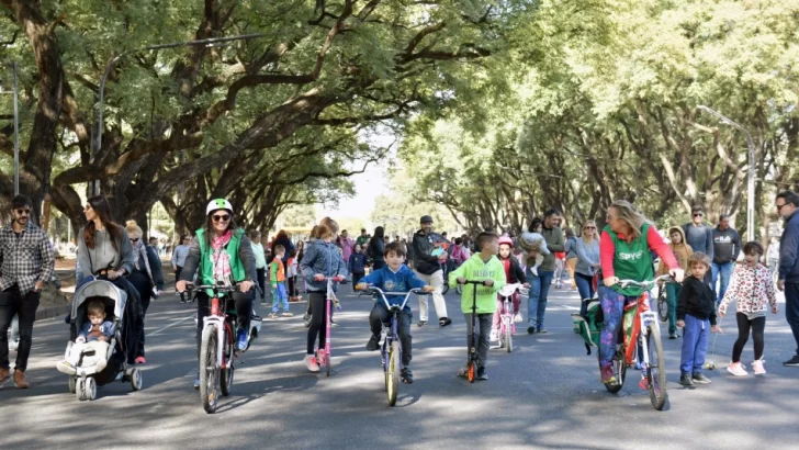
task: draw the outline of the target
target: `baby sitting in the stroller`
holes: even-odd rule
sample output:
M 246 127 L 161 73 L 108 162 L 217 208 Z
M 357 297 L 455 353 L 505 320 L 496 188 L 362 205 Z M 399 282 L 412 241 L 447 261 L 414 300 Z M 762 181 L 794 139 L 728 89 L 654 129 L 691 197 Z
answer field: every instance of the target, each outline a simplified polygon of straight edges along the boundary
M 61 373 L 74 375 L 78 367 L 87 369 L 93 365 L 94 372 L 105 369 L 109 342 L 114 336 L 114 324 L 105 320 L 105 304 L 102 300 L 90 301 L 87 312 L 89 320 L 81 326 L 67 359 L 56 364 Z

